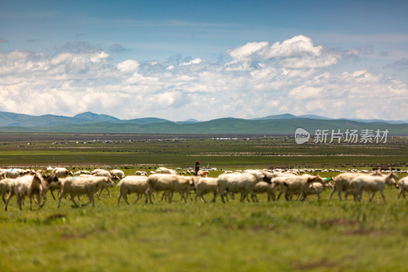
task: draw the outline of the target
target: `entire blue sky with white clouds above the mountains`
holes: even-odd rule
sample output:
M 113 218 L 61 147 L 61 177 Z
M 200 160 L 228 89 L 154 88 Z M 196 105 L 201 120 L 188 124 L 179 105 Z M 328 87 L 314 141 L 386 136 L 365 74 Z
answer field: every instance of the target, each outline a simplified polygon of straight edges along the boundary
M 0 111 L 408 119 L 406 11 L 406 1 L 0 0 Z

